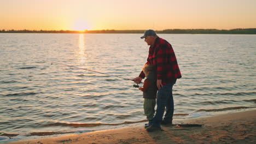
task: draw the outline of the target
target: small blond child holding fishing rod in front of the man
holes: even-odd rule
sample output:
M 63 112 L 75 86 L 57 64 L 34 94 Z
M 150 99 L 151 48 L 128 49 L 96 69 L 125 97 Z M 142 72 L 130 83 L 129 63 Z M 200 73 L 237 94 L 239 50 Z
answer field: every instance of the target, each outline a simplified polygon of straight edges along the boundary
M 143 87 L 139 87 L 139 90 L 143 92 L 144 98 L 144 113 L 147 116 L 148 124 L 145 124 L 145 128 L 148 128 L 152 125 L 152 119 L 154 118 L 155 113 L 155 104 L 156 104 L 156 93 L 158 88 L 156 86 L 156 70 L 154 65 L 144 65 L 143 73 L 147 77 L 144 80 Z

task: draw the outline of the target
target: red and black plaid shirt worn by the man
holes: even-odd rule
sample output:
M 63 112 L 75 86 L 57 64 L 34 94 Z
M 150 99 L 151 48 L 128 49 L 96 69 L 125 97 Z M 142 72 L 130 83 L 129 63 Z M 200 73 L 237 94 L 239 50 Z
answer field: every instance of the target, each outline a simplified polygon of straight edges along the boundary
M 162 80 L 162 85 L 182 77 L 172 45 L 162 38 L 157 37 L 154 45 L 149 47 L 147 64 L 156 66 L 157 77 Z M 139 77 L 144 79 L 143 71 Z

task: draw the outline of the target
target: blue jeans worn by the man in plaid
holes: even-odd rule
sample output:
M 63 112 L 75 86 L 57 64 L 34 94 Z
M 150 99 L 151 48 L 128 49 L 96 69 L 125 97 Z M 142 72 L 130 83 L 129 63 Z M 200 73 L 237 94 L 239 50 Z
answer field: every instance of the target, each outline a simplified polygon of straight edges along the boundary
M 172 87 L 176 83 L 176 79 L 166 85 L 162 86 L 161 89 L 158 90 L 158 95 L 156 97 L 156 104 L 158 105 L 156 108 L 155 117 L 153 118 L 153 125 L 156 127 L 161 126 L 162 116 L 164 116 L 165 108 L 165 118 L 171 119 L 173 117 L 174 111 L 174 103 L 172 97 Z

